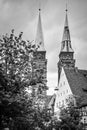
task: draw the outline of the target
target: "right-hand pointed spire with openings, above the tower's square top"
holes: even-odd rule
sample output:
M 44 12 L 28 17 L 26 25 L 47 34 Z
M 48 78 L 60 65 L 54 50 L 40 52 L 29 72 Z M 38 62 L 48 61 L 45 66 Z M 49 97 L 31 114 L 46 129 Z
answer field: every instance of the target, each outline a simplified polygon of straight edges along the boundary
M 66 16 L 65 16 L 65 25 L 64 25 L 64 31 L 63 31 L 63 37 L 62 37 L 62 45 L 61 45 L 61 51 L 62 52 L 73 52 L 72 46 L 71 46 L 71 38 L 70 38 L 70 31 L 69 31 L 69 25 L 68 25 L 68 15 L 67 15 L 67 7 L 66 7 Z

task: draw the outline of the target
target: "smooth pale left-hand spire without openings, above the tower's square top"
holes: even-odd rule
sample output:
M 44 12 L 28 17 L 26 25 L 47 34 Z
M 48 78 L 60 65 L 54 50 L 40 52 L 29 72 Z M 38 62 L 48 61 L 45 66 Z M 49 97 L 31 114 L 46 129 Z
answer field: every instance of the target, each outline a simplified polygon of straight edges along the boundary
M 38 47 L 38 51 L 45 51 L 42 22 L 41 22 L 41 9 L 39 9 L 39 18 L 38 18 L 38 26 L 37 26 L 35 44 Z

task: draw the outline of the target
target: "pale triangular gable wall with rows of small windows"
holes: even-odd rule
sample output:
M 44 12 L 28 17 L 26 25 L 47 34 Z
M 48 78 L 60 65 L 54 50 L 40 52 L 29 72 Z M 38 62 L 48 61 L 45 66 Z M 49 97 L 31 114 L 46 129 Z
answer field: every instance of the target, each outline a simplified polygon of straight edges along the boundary
M 54 111 L 56 112 L 58 111 L 59 107 L 61 107 L 62 105 L 66 105 L 66 99 L 72 94 L 73 93 L 68 83 L 65 71 L 62 67 L 60 80 L 58 84 L 58 91 L 56 92 Z

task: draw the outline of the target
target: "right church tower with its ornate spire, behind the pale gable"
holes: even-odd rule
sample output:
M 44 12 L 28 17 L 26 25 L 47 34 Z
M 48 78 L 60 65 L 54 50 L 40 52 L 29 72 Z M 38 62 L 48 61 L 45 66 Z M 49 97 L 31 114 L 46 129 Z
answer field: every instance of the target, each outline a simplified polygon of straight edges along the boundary
M 73 59 L 74 51 L 71 46 L 70 30 L 68 25 L 68 15 L 66 9 L 65 25 L 63 31 L 63 37 L 61 42 L 61 51 L 59 54 L 58 62 L 58 82 L 60 79 L 60 73 L 62 67 L 72 68 L 75 67 L 75 60 Z

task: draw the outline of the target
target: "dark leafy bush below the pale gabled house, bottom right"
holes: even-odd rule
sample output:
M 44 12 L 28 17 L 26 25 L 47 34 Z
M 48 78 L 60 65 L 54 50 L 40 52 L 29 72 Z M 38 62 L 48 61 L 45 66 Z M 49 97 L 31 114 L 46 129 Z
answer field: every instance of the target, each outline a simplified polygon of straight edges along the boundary
M 69 100 L 68 100 L 69 101 Z M 60 112 L 61 125 L 63 129 L 77 130 L 80 125 L 80 111 L 78 107 L 75 107 L 74 104 L 68 102 L 66 108 L 62 107 Z M 82 129 L 82 128 L 81 128 Z M 80 130 L 80 129 L 79 129 Z

